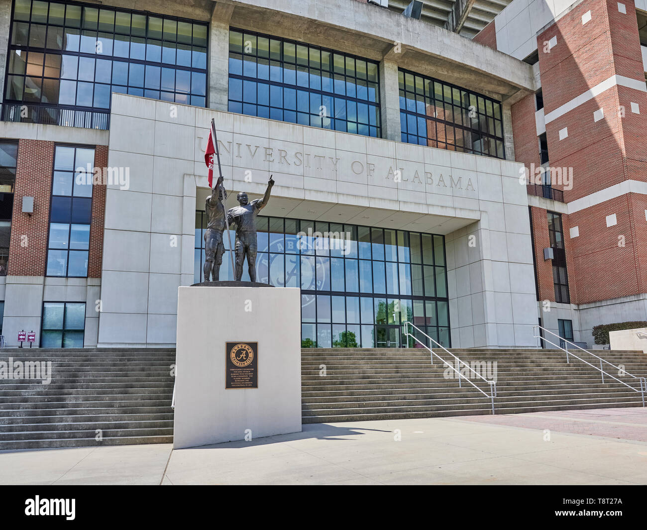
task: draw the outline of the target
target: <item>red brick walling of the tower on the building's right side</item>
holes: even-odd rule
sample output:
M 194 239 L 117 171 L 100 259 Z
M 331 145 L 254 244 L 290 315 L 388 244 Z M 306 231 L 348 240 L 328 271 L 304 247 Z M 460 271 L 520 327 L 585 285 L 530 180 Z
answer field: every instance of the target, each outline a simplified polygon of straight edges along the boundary
M 613 75 L 644 82 L 637 19 L 632 0 L 584 0 L 538 35 L 540 74 L 545 113 L 585 93 Z M 591 20 L 582 25 L 582 15 Z M 550 52 L 543 45 L 553 36 Z M 631 113 L 631 102 L 641 114 Z M 595 122 L 593 113 L 604 109 Z M 646 110 L 643 110 L 646 109 Z M 527 116 L 525 116 L 527 114 Z M 517 159 L 528 165 L 534 158 L 534 115 L 531 102 L 512 105 Z M 532 120 L 534 126 L 534 120 Z M 568 137 L 559 140 L 567 127 Z M 614 86 L 579 105 L 546 126 L 550 165 L 573 168 L 573 189 L 565 201 L 585 197 L 628 179 L 647 182 L 647 94 Z M 534 138 L 533 138 L 534 140 Z M 535 162 L 536 164 L 538 162 Z M 556 188 L 562 188 L 553 182 Z M 570 215 L 562 215 L 571 303 L 586 304 L 647 292 L 647 197 L 628 193 Z M 606 216 L 617 215 L 617 225 L 606 226 Z M 532 208 L 536 268 L 540 298 L 554 300 L 547 246 L 545 210 Z M 571 239 L 569 229 L 578 226 Z M 619 245 L 619 236 L 624 245 Z

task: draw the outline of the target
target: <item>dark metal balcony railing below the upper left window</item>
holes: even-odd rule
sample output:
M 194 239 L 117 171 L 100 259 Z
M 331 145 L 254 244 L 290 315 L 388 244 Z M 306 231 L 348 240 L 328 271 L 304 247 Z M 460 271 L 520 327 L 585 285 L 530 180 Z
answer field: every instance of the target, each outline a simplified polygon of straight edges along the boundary
M 83 111 L 79 109 L 61 109 L 60 107 L 48 105 L 19 103 L 4 103 L 0 107 L 1 121 L 3 122 L 23 122 L 102 130 L 106 130 L 110 126 L 110 113 L 108 111 Z

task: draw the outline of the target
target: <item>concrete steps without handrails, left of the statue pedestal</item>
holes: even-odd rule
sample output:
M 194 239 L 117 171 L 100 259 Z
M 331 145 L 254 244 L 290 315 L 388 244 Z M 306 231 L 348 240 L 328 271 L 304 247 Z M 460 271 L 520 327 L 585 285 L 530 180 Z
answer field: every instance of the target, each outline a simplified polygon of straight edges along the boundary
M 0 350 L 9 357 L 51 361 L 52 381 L 0 377 L 0 450 L 173 441 L 174 349 Z

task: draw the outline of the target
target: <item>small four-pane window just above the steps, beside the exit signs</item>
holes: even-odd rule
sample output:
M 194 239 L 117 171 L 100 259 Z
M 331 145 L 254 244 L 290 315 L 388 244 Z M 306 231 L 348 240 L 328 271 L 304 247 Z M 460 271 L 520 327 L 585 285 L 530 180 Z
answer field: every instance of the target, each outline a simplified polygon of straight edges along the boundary
M 41 348 L 83 348 L 85 302 L 45 302 Z

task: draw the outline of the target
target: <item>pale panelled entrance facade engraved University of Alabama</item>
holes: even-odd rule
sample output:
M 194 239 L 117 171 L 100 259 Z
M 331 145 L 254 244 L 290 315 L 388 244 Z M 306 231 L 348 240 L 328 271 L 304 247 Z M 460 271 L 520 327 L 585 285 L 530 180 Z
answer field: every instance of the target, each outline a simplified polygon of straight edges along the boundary
M 265 215 L 446 235 L 450 315 L 459 323 L 452 344 L 534 346 L 520 164 L 182 105 L 171 118 L 169 107 L 113 96 L 109 165 L 129 165 L 133 177 L 129 190 L 107 189 L 100 345 L 175 343 L 175 289 L 193 283 L 195 209 L 208 195 L 204 124 L 213 117 L 229 190 L 258 196 L 271 173 Z M 142 146 L 144 131 L 155 133 Z M 508 250 L 494 252 L 501 246 Z

